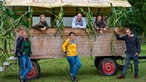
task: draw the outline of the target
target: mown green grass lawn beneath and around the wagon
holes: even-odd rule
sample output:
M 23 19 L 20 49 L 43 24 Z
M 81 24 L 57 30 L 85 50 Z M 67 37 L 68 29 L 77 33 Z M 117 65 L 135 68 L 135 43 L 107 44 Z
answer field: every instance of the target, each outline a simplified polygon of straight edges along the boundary
M 146 45 L 142 45 L 141 55 L 146 55 Z M 140 60 L 140 61 L 146 61 Z M 81 58 L 82 67 L 78 72 L 79 82 L 146 82 L 146 62 L 139 64 L 139 78 L 134 79 L 131 69 L 127 71 L 125 79 L 116 79 L 121 70 L 115 76 L 101 76 L 94 66 L 94 60 L 90 57 Z M 71 82 L 69 79 L 69 65 L 65 58 L 47 59 L 39 61 L 41 75 L 38 79 L 28 82 Z M 14 69 L 15 68 L 15 69 Z M 0 73 L 0 82 L 19 82 L 18 66 L 13 70 L 7 69 Z

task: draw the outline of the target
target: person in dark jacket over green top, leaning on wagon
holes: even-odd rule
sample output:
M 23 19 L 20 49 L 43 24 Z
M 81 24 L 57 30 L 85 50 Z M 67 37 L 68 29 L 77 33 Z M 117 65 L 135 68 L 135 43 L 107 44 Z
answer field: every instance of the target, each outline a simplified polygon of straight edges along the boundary
M 30 54 L 31 45 L 28 40 L 27 32 L 22 32 L 22 36 L 17 38 L 15 52 L 15 57 L 18 57 L 19 61 L 20 82 L 26 82 L 26 76 L 32 69 Z

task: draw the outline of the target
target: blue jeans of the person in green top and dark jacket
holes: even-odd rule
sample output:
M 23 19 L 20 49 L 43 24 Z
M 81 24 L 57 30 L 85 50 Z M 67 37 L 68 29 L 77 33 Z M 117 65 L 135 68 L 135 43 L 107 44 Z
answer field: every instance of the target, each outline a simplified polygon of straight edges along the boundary
M 32 63 L 30 58 L 23 54 L 22 56 L 18 57 L 19 60 L 19 74 L 20 76 L 24 77 L 26 79 L 27 74 L 32 69 Z

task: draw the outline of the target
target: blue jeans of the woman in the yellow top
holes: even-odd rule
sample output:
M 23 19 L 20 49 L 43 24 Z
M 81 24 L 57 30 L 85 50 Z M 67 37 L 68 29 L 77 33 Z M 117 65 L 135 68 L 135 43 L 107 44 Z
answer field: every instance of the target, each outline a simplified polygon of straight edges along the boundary
M 78 56 L 67 56 L 67 60 L 70 65 L 70 73 L 75 78 L 79 68 L 81 67 L 81 62 Z

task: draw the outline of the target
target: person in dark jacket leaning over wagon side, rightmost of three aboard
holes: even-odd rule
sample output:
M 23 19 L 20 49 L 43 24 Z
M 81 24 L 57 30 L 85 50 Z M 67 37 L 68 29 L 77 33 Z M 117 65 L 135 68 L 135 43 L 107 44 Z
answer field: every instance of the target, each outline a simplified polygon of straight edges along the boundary
M 94 25 L 95 25 L 96 29 L 98 31 L 100 31 L 100 33 L 103 33 L 101 28 L 104 28 L 104 30 L 106 30 L 106 28 L 107 28 L 107 24 L 106 24 L 105 20 L 100 15 L 97 16 Z

